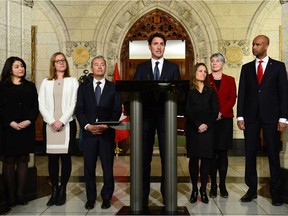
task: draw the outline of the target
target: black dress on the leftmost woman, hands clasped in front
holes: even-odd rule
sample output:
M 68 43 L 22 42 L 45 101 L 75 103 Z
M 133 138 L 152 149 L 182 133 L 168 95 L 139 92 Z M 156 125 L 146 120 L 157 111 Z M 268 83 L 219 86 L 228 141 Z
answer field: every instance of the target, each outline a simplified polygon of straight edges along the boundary
M 0 85 L 0 122 L 2 127 L 2 155 L 16 156 L 34 152 L 35 121 L 39 114 L 38 95 L 35 84 L 25 80 L 20 85 Z M 10 126 L 30 120 L 31 124 L 15 130 Z

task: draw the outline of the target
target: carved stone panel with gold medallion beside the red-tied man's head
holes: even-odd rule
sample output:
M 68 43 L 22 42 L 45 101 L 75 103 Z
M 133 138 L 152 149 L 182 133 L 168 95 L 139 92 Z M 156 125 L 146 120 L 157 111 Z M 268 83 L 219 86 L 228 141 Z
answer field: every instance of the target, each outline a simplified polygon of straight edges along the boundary
M 240 67 L 243 56 L 249 55 L 248 40 L 221 40 L 219 41 L 219 51 L 226 58 L 228 67 Z

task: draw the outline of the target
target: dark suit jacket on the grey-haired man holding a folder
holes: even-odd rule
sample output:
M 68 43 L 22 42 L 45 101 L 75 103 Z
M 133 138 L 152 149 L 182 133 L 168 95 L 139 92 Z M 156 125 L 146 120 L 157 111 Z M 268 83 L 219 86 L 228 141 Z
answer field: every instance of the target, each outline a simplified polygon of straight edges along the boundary
M 114 83 L 106 79 L 99 104 L 93 88 L 93 77 L 81 84 L 78 88 L 76 117 L 83 129 L 83 139 L 93 137 L 91 132 L 84 129 L 87 124 L 95 124 L 98 121 L 118 121 L 122 112 L 122 104 L 120 94 L 116 92 Z M 109 128 L 99 137 L 114 142 L 115 130 Z

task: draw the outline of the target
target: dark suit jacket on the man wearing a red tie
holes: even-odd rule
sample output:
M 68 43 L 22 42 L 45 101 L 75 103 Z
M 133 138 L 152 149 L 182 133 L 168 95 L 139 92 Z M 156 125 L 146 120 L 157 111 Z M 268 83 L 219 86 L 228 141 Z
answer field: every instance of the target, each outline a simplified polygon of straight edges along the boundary
M 262 82 L 257 82 L 255 60 L 242 66 L 237 117 L 246 123 L 260 118 L 263 123 L 277 123 L 287 118 L 288 88 L 285 64 L 269 58 Z

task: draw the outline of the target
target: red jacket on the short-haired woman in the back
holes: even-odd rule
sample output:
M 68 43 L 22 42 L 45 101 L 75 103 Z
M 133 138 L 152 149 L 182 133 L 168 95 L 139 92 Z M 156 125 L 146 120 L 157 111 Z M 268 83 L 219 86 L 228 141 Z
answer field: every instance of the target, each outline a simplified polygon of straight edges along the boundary
M 217 89 L 212 74 L 210 74 L 209 76 L 212 87 L 217 94 L 219 112 L 222 113 L 222 116 L 224 118 L 233 118 L 233 106 L 235 105 L 237 97 L 234 77 L 222 74 L 221 85 L 219 89 Z

